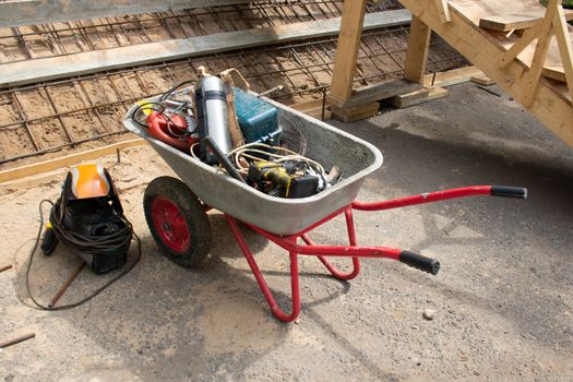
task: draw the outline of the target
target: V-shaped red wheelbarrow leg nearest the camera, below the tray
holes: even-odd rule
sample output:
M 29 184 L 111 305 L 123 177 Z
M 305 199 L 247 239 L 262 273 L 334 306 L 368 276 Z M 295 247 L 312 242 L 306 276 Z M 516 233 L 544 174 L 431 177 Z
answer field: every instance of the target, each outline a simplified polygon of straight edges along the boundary
M 249 263 L 249 266 L 251 267 L 254 278 L 256 278 L 256 283 L 259 284 L 259 287 L 261 288 L 261 291 L 263 293 L 264 298 L 266 299 L 266 302 L 268 302 L 268 306 L 271 307 L 273 314 L 283 322 L 294 321 L 300 313 L 300 288 L 299 288 L 299 283 L 298 283 L 298 253 L 289 252 L 290 290 L 293 295 L 293 310 L 290 314 L 287 314 L 278 307 L 278 303 L 276 302 L 273 296 L 273 293 L 266 285 L 263 274 L 261 273 L 259 265 L 256 265 L 256 261 L 254 260 L 254 256 L 251 250 L 249 249 L 247 241 L 244 241 L 244 237 L 239 230 L 237 220 L 234 217 L 230 217 L 228 215 L 225 215 L 225 217 L 227 217 L 227 222 L 229 222 L 230 229 L 232 230 L 232 234 L 235 235 L 235 238 L 237 239 L 237 242 L 239 243 L 242 254 L 244 255 L 244 258 L 247 259 L 247 262 Z M 296 244 L 297 238 L 290 237 L 288 238 L 288 240 Z

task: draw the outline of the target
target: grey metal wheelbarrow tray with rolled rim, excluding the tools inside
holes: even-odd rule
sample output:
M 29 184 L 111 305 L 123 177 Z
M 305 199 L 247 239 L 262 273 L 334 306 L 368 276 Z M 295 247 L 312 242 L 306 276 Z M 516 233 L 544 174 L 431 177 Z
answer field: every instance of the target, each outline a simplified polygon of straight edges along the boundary
M 272 104 L 279 109 L 279 124 L 293 123 L 307 136 L 309 146 L 306 155 L 325 169 L 338 166 L 343 181 L 311 198 L 268 196 L 151 138 L 129 118 L 131 112 L 128 112 L 123 124 L 146 139 L 204 204 L 272 234 L 289 235 L 348 205 L 358 194 L 366 176 L 382 165 L 382 154 L 368 142 L 280 104 Z

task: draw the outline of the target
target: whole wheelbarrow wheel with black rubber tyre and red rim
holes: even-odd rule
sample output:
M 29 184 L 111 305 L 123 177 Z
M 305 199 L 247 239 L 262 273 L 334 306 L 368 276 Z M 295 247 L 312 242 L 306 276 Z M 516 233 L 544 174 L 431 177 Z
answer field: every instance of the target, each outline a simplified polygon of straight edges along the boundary
M 155 178 L 145 189 L 147 226 L 162 252 L 176 264 L 193 267 L 211 248 L 205 206 L 179 179 Z

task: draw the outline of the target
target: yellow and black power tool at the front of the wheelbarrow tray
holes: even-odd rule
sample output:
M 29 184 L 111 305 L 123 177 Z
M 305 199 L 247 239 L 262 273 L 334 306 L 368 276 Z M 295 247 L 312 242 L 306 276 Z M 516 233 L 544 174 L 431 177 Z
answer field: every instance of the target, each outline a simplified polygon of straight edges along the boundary
M 265 190 L 265 182 L 271 182 L 270 195 L 299 199 L 312 196 L 319 192 L 319 177 L 314 175 L 294 176 L 295 167 L 276 162 L 261 160 L 249 166 L 248 180 L 260 190 Z

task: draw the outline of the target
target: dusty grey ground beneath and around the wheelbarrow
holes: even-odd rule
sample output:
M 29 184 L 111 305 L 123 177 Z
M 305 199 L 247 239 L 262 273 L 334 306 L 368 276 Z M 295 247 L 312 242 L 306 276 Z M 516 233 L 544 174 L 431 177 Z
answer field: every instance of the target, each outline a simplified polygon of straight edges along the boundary
M 199 270 L 158 253 L 142 211 L 145 184 L 169 168 L 150 147 L 102 158 L 142 238 L 134 271 L 86 305 L 29 307 L 26 258 L 37 204 L 56 199 L 64 171 L 0 186 L 0 351 L 10 381 L 571 381 L 573 380 L 573 152 L 502 94 L 474 84 L 449 97 L 341 129 L 373 143 L 385 163 L 359 194 L 374 201 L 465 184 L 529 189 L 526 201 L 466 199 L 355 214 L 359 243 L 434 256 L 438 276 L 366 260 L 342 283 L 301 261 L 302 309 L 277 322 L 223 215 L 211 212 L 214 244 Z M 246 231 L 279 303 L 288 303 L 287 256 Z M 341 243 L 337 219 L 319 242 Z M 133 258 L 132 250 L 131 256 Z M 59 251 L 38 255 L 32 289 L 47 301 L 75 266 Z M 110 276 L 84 271 L 71 302 Z M 422 317 L 435 311 L 433 320 Z

